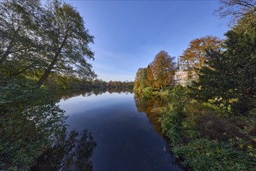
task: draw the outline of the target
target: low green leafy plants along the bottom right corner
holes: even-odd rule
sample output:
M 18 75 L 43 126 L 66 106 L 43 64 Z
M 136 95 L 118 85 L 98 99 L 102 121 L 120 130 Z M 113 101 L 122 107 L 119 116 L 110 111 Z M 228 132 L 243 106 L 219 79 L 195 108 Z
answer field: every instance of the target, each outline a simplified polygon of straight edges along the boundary
M 173 152 L 183 159 L 184 167 L 193 170 L 254 170 L 256 167 L 255 159 L 247 153 L 205 138 L 176 146 Z

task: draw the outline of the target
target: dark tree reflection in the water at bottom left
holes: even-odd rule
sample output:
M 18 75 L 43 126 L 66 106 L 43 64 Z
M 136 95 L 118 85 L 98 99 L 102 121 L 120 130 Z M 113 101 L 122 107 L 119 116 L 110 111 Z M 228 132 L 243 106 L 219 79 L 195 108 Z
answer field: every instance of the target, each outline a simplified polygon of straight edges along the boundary
M 96 141 L 87 130 L 62 132 L 32 170 L 92 170 L 91 156 L 95 147 Z

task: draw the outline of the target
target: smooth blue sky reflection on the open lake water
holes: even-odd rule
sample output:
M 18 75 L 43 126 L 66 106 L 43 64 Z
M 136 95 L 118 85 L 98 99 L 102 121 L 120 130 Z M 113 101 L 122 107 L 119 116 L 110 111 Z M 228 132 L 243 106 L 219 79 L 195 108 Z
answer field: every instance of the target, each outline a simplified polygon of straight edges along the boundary
M 146 113 L 139 113 L 131 93 L 76 96 L 59 103 L 70 129 L 88 129 L 96 140 L 93 170 L 179 170 L 163 151 L 163 138 Z

